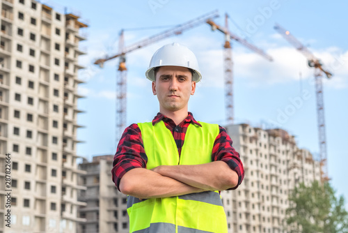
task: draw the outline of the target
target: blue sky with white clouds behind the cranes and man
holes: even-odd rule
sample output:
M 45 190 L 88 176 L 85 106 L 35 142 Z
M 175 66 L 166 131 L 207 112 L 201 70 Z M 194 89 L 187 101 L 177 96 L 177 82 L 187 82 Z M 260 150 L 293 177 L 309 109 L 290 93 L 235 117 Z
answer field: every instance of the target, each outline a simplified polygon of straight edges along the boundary
M 81 43 L 88 54 L 79 60 L 86 66 L 80 77 L 79 155 L 91 158 L 115 153 L 115 78 L 118 61 L 109 61 L 103 69 L 93 65 L 95 59 L 118 50 L 120 29 L 159 27 L 187 22 L 195 17 L 219 10 L 215 21 L 224 23 L 223 15 L 232 18 L 230 31 L 262 48 L 273 62 L 260 57 L 238 43 L 233 43 L 235 120 L 251 126 L 276 126 L 296 136 L 301 148 L 315 156 L 319 152 L 317 110 L 313 70 L 306 59 L 287 43 L 274 29 L 274 24 L 289 30 L 303 45 L 323 61 L 332 73 L 324 79 L 324 107 L 329 176 L 339 195 L 348 201 L 347 164 L 345 149 L 348 124 L 348 43 L 347 1 L 44 1 L 55 9 L 72 8 L 88 22 L 88 40 Z M 125 45 L 159 33 L 164 29 L 125 32 Z M 223 35 L 201 24 L 180 36 L 136 50 L 127 55 L 127 125 L 150 121 L 158 112 L 157 98 L 150 91 L 145 70 L 152 54 L 161 45 L 179 42 L 193 50 L 203 73 L 189 105 L 196 119 L 223 123 L 225 119 L 223 91 Z M 301 73 L 301 75 L 300 75 Z M 294 104 L 297 100 L 298 105 Z M 292 114 L 284 115 L 290 108 Z M 348 206 L 348 204 L 347 204 Z

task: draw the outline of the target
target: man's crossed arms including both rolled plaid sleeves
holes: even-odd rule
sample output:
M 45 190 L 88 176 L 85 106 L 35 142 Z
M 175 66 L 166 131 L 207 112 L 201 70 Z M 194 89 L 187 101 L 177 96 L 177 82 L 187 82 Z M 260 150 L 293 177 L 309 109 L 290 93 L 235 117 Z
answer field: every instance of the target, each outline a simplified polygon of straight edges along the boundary
M 235 188 L 244 178 L 239 154 L 220 126 L 212 149 L 211 163 L 161 165 L 147 170 L 141 130 L 132 124 L 123 133 L 113 160 L 112 179 L 118 190 L 139 198 L 173 197 L 206 190 Z

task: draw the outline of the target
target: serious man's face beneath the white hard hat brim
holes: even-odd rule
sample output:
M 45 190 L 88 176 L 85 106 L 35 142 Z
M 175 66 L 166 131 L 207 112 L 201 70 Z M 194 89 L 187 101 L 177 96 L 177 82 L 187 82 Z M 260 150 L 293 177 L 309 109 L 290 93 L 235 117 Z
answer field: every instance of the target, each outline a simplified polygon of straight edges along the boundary
M 162 66 L 157 70 L 156 80 L 152 82 L 152 92 L 159 100 L 162 113 L 187 111 L 190 95 L 196 90 L 188 68 L 180 66 Z

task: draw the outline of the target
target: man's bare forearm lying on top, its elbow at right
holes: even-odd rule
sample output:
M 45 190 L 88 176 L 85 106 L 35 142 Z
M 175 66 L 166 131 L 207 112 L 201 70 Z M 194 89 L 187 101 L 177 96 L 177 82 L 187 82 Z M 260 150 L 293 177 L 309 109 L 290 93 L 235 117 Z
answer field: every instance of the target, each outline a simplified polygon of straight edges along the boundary
M 201 165 L 161 165 L 152 170 L 204 190 L 226 190 L 238 183 L 237 173 L 223 161 Z

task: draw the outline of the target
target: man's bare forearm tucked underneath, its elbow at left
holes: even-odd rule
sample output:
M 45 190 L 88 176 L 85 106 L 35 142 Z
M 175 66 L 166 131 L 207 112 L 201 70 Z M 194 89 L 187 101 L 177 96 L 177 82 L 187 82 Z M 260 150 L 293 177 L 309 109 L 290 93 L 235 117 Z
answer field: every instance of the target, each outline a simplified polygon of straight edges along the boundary
M 145 168 L 134 168 L 120 180 L 120 191 L 138 198 L 173 197 L 205 190 Z

